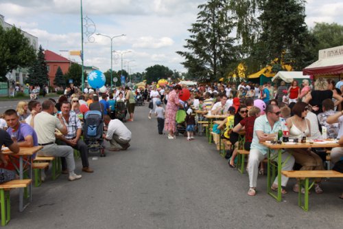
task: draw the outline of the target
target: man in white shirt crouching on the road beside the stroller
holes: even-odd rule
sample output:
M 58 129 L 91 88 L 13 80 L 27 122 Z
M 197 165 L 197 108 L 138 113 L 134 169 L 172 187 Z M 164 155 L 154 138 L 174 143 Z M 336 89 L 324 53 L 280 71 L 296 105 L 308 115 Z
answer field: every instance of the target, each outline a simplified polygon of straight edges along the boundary
M 107 134 L 104 133 L 104 140 L 110 141 L 111 148 L 109 151 L 125 151 L 130 147 L 131 131 L 119 119 L 110 119 L 110 116 L 104 116 Z

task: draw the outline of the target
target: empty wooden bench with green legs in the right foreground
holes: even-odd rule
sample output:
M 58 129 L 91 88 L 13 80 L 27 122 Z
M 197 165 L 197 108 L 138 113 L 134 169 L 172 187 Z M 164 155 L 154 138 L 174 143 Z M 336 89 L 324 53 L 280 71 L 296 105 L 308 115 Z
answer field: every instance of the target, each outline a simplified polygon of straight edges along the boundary
M 314 186 L 314 182 L 309 184 L 310 178 L 325 178 L 325 177 L 338 177 L 342 178 L 343 173 L 338 173 L 333 170 L 324 170 L 324 171 L 281 171 L 285 177 L 289 178 L 300 178 L 299 179 L 299 190 L 301 187 L 305 188 L 305 193 L 298 193 L 298 206 L 303 208 L 303 210 L 309 210 L 309 190 Z

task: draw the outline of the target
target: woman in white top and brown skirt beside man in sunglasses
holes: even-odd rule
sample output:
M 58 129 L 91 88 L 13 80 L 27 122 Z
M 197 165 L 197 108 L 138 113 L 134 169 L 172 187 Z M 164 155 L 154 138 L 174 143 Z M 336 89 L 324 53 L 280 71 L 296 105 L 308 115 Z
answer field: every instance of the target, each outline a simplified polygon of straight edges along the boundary
M 296 102 L 292 108 L 292 113 L 294 116 L 286 120 L 287 127 L 289 128 L 289 136 L 293 138 L 298 138 L 300 141 L 303 134 L 307 137 L 311 137 L 311 127 L 310 122 L 307 118 L 308 108 L 305 102 Z M 300 171 L 312 171 L 312 170 L 324 170 L 322 165 L 322 160 L 320 157 L 311 151 L 311 149 L 288 149 L 287 151 L 293 151 L 296 163 L 301 165 Z M 294 185 L 294 192 L 299 192 L 299 185 Z M 322 193 L 322 188 L 320 188 L 320 178 L 315 179 L 314 190 L 316 193 Z M 304 189 L 301 188 L 301 192 L 304 193 Z

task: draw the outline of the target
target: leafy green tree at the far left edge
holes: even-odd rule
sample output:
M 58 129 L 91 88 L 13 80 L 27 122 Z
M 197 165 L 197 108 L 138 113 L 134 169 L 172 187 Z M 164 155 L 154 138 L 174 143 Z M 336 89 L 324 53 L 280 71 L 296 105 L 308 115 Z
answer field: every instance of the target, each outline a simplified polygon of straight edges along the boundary
M 10 82 L 6 78 L 8 72 L 18 67 L 29 67 L 36 58 L 36 51 L 25 38 L 21 30 L 14 26 L 4 29 L 0 25 L 0 81 Z

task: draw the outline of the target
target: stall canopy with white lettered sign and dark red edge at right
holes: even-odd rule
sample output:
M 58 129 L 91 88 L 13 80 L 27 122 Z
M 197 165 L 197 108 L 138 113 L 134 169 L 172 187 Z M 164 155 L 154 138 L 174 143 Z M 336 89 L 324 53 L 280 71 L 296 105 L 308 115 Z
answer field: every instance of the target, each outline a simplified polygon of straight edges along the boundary
M 319 50 L 319 60 L 303 69 L 304 75 L 335 75 L 343 73 L 343 46 Z

